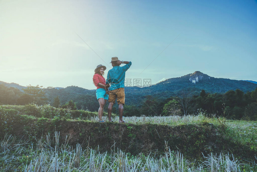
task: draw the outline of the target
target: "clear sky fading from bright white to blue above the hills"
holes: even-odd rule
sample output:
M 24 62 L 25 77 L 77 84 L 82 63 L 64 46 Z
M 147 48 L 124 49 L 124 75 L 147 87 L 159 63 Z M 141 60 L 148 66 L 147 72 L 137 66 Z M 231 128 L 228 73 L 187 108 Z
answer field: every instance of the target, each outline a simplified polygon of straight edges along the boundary
M 201 71 L 257 81 L 257 2 L 0 0 L 0 81 L 96 89 L 98 64 L 131 61 L 155 84 Z

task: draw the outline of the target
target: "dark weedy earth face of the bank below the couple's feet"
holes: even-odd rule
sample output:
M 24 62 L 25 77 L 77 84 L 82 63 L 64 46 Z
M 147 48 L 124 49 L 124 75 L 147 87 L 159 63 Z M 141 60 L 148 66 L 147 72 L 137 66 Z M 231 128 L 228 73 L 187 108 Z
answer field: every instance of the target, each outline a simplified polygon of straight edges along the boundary
M 83 148 L 88 146 L 101 152 L 111 149 L 121 149 L 131 154 L 145 153 L 159 154 L 166 147 L 179 150 L 189 157 L 201 157 L 202 153 L 220 153 L 229 151 L 239 154 L 235 143 L 223 137 L 223 130 L 215 128 L 209 123 L 197 125 L 168 126 L 156 124 L 129 123 L 98 123 L 84 121 L 66 121 L 49 119 L 29 119 L 17 115 L 12 119 L 1 122 L 0 136 L 5 133 L 16 135 L 18 138 L 46 139 L 48 133 L 51 138 L 54 132 L 60 132 L 59 143 L 64 144 L 66 136 L 70 137 L 69 144 L 75 146 L 80 143 Z M 166 141 L 166 144 L 165 144 Z

